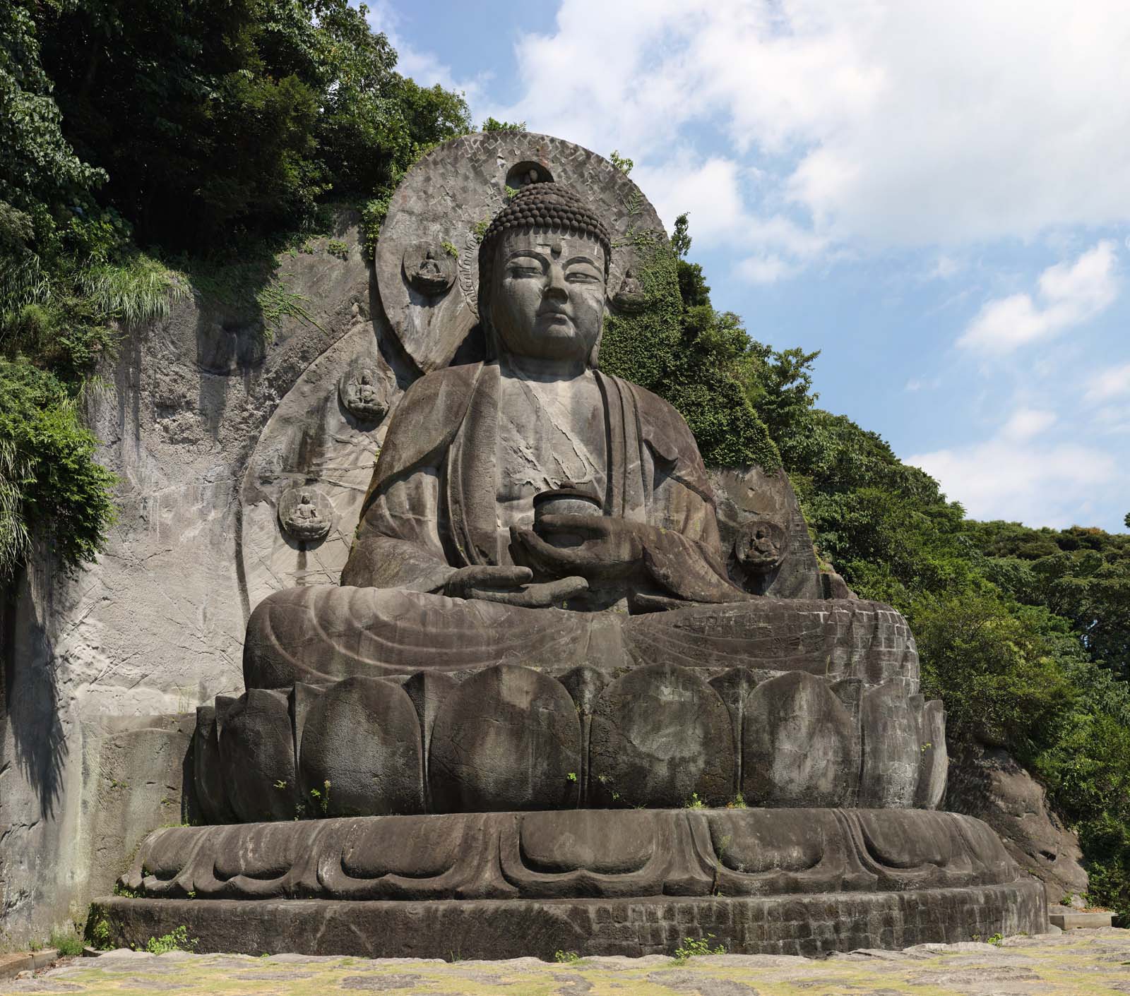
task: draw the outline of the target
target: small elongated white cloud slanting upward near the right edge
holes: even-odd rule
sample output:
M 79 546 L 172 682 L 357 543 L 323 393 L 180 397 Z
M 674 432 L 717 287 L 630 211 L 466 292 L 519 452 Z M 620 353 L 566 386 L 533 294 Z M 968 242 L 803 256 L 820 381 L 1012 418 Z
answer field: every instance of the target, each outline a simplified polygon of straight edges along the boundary
M 1118 297 L 1114 243 L 1104 239 L 1074 263 L 1049 267 L 1037 283 L 1038 303 L 1014 294 L 985 304 L 958 346 L 981 352 L 1011 352 L 1093 318 Z

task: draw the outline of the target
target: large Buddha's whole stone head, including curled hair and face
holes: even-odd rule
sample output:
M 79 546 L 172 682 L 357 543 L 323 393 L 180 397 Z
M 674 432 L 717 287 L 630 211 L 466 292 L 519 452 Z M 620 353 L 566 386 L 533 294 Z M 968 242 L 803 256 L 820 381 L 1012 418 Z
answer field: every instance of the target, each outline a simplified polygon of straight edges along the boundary
M 611 241 L 567 187 L 523 186 L 479 246 L 479 317 L 492 355 L 596 366 Z

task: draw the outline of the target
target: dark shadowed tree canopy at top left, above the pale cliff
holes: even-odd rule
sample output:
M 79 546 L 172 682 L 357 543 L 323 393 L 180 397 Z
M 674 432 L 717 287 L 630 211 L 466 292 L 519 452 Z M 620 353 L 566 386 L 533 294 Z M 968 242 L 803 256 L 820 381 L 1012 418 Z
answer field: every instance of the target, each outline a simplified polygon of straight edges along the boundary
M 308 226 L 327 192 L 391 190 L 421 148 L 470 130 L 466 101 L 397 73 L 346 0 L 37 10 L 64 133 L 145 242 Z

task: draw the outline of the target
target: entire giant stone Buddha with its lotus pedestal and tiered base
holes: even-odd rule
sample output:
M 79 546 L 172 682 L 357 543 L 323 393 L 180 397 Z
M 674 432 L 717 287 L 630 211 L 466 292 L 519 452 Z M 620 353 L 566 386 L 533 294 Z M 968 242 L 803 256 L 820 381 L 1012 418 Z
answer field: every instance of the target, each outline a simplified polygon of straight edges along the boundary
M 488 140 L 530 139 L 453 145 Z M 780 536 L 723 550 L 684 420 L 598 370 L 611 250 L 554 183 L 494 218 L 486 359 L 401 399 L 341 585 L 251 614 L 246 691 L 193 737 L 194 804 L 227 825 L 145 840 L 101 901 L 123 942 L 818 954 L 1042 929 L 992 831 L 924 812 L 945 713 L 902 617 L 756 594 L 734 556 Z

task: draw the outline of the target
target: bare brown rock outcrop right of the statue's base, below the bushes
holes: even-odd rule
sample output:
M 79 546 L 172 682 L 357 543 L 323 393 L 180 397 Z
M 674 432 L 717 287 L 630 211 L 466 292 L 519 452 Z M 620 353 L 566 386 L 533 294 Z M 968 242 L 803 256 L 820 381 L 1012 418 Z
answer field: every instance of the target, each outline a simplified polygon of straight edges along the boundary
M 944 809 L 992 827 L 1016 863 L 1044 883 L 1049 903 L 1086 891 L 1079 839 L 1052 812 L 1043 786 L 1007 751 L 979 745 L 955 751 Z

